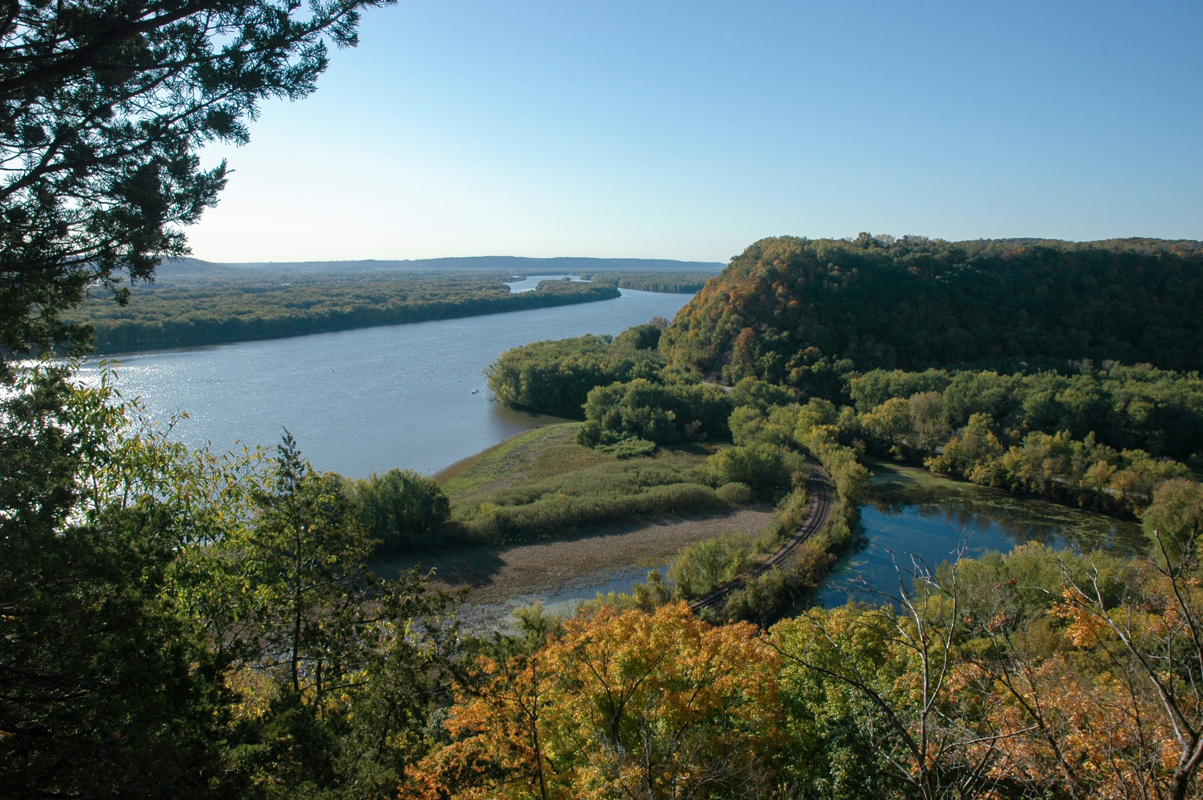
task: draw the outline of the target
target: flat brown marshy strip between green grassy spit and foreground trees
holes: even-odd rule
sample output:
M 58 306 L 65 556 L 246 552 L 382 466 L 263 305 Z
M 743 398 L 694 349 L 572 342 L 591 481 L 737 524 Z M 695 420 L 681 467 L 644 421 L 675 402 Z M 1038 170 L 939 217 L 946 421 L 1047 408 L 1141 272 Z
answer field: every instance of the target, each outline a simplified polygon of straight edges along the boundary
M 472 547 L 378 565 L 392 575 L 414 564 L 434 568 L 438 588 L 470 586 L 468 603 L 496 605 L 516 597 L 552 595 L 575 587 L 597 586 L 606 575 L 633 567 L 657 567 L 681 546 L 740 532 L 759 537 L 772 518 L 772 508 L 755 505 L 723 514 L 658 517 L 612 526 L 576 539 L 504 547 Z

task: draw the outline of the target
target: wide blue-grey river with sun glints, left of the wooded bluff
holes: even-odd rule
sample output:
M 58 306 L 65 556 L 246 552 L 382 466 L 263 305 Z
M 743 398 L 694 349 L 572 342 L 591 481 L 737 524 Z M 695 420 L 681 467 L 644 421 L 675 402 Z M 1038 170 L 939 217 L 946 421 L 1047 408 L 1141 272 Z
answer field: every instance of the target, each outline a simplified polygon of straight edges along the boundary
M 621 292 L 558 308 L 123 354 L 118 387 L 141 396 L 154 419 L 186 411 L 176 432 L 192 446 L 271 445 L 288 428 L 318 469 L 351 478 L 393 467 L 429 474 L 558 421 L 490 401 L 482 371 L 503 350 L 617 334 L 653 316 L 672 319 L 691 297 Z M 84 379 L 95 380 L 96 369 L 88 363 Z

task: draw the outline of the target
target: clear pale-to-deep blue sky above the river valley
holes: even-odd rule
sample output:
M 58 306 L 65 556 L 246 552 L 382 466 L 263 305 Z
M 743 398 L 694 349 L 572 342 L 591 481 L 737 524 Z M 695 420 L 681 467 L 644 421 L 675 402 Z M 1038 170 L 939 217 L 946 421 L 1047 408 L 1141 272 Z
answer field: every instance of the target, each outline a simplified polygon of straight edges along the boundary
M 1203 2 L 422 2 L 272 102 L 214 261 L 1203 238 Z

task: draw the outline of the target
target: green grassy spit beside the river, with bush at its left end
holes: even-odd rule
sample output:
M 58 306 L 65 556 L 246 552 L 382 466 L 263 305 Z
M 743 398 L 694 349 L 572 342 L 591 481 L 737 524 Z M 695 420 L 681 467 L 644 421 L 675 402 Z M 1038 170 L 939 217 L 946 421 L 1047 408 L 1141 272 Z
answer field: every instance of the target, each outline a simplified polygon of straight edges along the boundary
M 342 491 L 389 553 L 563 538 L 752 499 L 712 468 L 721 445 L 627 456 L 579 445 L 579 428 L 561 423 L 514 437 L 445 486 L 393 469 L 344 480 Z

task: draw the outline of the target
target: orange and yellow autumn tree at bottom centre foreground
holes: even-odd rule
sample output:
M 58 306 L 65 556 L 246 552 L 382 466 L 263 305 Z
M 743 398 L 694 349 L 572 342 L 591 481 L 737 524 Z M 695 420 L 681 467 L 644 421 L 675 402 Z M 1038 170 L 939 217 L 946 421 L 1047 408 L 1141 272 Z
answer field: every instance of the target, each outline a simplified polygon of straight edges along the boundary
M 603 606 L 540 651 L 481 659 L 452 742 L 402 796 L 740 798 L 772 792 L 777 656 L 755 627 L 712 627 L 685 604 Z

